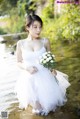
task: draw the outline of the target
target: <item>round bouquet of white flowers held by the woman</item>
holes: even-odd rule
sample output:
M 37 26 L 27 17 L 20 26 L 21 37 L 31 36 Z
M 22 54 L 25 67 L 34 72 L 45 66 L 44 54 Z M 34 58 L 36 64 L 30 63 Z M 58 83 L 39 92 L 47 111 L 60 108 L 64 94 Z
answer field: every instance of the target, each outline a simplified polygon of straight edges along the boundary
M 50 51 L 43 53 L 40 57 L 40 64 L 52 70 L 55 66 L 55 56 Z

